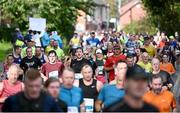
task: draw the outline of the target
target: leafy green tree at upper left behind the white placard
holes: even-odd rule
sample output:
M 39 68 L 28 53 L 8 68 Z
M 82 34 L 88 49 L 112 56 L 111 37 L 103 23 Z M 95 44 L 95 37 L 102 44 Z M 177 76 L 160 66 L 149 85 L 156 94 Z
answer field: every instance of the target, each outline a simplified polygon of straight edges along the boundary
M 69 38 L 74 32 L 78 10 L 90 14 L 92 0 L 1 0 L 3 19 L 10 19 L 20 29 L 28 28 L 29 17 L 46 18 L 50 30 Z

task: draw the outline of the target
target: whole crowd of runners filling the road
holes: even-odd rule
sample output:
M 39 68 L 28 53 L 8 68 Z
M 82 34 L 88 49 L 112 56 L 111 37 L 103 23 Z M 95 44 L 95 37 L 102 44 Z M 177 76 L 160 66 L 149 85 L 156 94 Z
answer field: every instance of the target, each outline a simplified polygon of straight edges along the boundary
M 56 31 L 16 29 L 0 76 L 0 109 L 180 112 L 180 37 L 75 32 L 65 54 Z

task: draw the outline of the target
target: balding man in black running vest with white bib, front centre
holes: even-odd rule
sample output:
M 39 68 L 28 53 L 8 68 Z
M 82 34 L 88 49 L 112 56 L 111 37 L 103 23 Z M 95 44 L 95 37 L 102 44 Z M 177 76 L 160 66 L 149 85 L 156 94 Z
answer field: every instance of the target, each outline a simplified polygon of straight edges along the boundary
M 95 105 L 94 102 L 96 101 L 98 93 L 101 90 L 103 84 L 93 78 L 93 70 L 91 66 L 84 65 L 82 67 L 81 73 L 83 75 L 83 78 L 75 80 L 74 85 L 82 89 L 86 112 L 93 112 L 95 111 L 95 109 L 93 108 Z M 88 105 L 88 102 L 86 103 L 86 101 L 92 102 L 91 105 Z

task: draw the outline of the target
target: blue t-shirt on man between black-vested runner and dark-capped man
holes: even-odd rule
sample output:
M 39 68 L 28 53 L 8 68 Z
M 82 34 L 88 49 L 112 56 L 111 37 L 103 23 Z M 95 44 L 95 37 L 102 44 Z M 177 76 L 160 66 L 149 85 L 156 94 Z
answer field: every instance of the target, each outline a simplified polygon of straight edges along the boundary
M 104 103 L 104 107 L 107 107 L 124 97 L 124 95 L 124 89 L 118 89 L 116 85 L 106 85 L 100 91 L 98 100 L 101 100 Z

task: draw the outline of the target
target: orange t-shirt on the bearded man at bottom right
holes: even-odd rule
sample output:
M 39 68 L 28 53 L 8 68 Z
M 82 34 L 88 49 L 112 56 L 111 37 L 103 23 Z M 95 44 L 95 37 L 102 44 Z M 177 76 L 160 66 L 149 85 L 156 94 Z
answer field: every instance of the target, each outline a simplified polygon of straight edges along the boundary
M 163 91 L 159 95 L 153 91 L 148 91 L 143 97 L 144 101 L 157 107 L 160 112 L 170 112 L 171 108 L 176 108 L 176 101 L 173 93 Z

